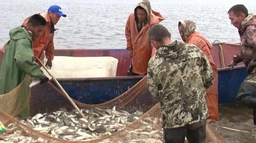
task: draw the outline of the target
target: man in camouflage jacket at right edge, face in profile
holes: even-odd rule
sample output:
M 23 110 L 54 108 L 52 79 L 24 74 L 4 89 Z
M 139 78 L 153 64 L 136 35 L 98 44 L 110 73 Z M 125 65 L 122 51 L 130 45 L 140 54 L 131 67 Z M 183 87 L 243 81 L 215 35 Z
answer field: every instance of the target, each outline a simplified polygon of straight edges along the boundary
M 256 16 L 248 14 L 247 8 L 242 4 L 231 7 L 228 14 L 231 24 L 238 29 L 242 46 L 229 66 L 233 69 L 243 61 L 249 74 L 240 86 L 235 99 L 247 107 L 254 108 L 254 125 L 256 125 Z

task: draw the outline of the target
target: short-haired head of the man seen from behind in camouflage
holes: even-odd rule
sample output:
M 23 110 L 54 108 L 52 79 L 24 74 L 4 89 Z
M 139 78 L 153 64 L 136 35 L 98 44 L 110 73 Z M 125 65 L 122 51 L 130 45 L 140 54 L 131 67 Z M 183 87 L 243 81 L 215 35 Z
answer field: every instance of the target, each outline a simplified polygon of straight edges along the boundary
M 163 25 L 155 24 L 149 30 L 149 40 L 151 45 L 158 48 L 171 42 L 171 33 Z

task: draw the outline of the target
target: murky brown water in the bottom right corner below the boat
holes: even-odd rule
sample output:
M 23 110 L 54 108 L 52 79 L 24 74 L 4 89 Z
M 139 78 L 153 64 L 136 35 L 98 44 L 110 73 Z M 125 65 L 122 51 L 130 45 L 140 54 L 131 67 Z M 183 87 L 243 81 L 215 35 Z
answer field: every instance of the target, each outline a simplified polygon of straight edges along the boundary
M 220 120 L 211 125 L 228 143 L 256 143 L 256 125 L 253 123 L 252 109 L 241 105 L 219 105 L 219 115 Z

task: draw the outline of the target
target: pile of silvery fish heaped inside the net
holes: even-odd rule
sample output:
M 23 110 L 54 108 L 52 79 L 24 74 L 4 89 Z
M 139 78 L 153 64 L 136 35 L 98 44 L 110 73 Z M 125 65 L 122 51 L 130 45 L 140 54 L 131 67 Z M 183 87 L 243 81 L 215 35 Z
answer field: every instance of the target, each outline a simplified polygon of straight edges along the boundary
M 140 111 L 132 114 L 124 110 L 117 111 L 115 107 L 112 109 L 90 108 L 81 109 L 86 116 L 81 118 L 76 110 L 70 112 L 64 110 L 51 114 L 37 114 L 20 122 L 58 139 L 89 141 L 109 136 L 133 123 L 143 114 Z

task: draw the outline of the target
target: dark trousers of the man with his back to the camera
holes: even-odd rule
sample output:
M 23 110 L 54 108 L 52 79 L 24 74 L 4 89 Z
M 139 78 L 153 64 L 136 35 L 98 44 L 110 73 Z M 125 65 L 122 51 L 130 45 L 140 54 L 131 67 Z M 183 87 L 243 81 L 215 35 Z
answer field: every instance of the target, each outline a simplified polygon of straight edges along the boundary
M 184 143 L 185 137 L 189 143 L 204 143 L 206 140 L 206 122 L 197 128 L 186 125 L 174 129 L 164 129 L 165 143 Z

